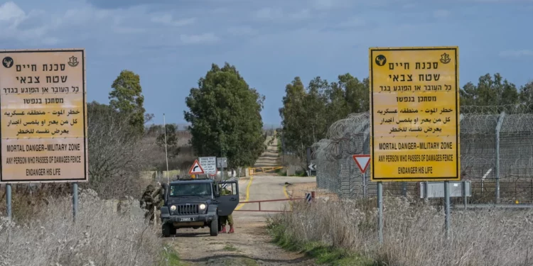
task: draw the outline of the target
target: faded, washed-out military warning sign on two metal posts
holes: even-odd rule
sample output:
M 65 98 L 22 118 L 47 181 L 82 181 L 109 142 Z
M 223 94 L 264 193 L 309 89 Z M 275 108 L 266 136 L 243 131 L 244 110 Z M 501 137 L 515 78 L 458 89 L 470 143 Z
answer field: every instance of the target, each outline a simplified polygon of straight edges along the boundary
M 85 50 L 0 50 L 0 183 L 88 181 Z

